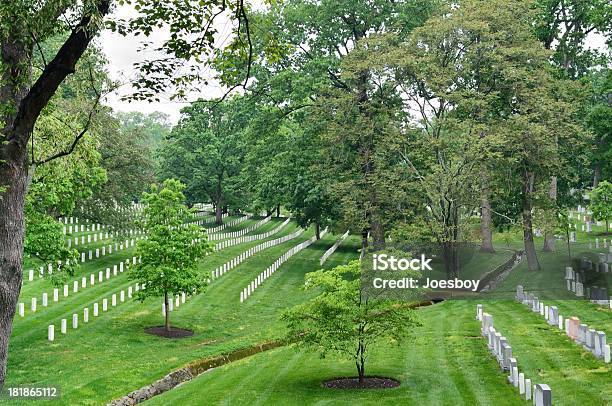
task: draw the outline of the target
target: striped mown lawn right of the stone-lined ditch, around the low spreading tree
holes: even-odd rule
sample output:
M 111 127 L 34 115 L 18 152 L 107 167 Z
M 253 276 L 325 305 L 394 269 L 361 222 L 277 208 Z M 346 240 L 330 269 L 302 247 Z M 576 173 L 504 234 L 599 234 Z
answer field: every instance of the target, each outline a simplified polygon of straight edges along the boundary
M 604 366 L 518 303 L 484 306 L 512 345 L 520 370 L 534 383 L 551 386 L 554 404 L 612 403 L 610 364 Z M 422 308 L 424 325 L 410 343 L 372 353 L 366 373 L 398 379 L 398 388 L 323 388 L 323 380 L 354 376 L 354 364 L 283 348 L 216 368 L 146 403 L 197 405 L 205 398 L 207 404 L 525 404 L 489 354 L 474 311 L 475 302 L 466 300 Z

